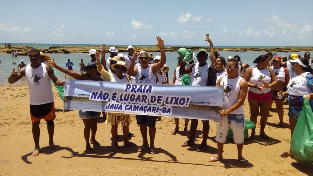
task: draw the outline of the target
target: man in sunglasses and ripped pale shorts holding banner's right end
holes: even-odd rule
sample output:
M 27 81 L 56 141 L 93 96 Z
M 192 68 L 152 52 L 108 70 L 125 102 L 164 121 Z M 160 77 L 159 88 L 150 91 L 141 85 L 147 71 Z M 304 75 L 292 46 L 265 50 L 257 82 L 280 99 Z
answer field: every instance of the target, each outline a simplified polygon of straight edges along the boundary
M 216 141 L 218 153 L 208 159 L 215 162 L 223 159 L 223 146 L 226 142 L 228 128 L 233 131 L 233 141 L 237 144 L 238 160 L 243 164 L 249 161 L 242 156 L 244 147 L 244 100 L 248 94 L 248 83 L 239 76 L 239 63 L 236 59 L 227 60 L 227 76 L 218 80 L 216 86 L 224 88 L 223 110 L 219 111 L 222 121 L 216 122 Z

